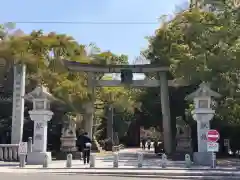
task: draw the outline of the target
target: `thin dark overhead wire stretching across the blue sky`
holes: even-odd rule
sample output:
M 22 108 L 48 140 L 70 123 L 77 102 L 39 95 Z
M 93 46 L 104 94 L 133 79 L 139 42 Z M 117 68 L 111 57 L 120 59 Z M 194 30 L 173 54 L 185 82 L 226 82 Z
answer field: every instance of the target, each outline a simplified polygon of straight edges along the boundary
M 96 24 L 96 25 L 148 25 L 148 24 L 159 24 L 159 22 L 154 21 L 10 21 L 16 24 Z

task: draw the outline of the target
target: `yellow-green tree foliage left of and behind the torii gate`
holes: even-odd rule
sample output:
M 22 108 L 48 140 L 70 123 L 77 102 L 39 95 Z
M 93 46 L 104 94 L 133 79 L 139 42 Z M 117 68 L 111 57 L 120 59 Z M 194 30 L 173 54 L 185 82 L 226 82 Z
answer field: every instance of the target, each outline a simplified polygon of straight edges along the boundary
M 82 113 L 83 104 L 92 98 L 93 94 L 87 86 L 87 74 L 68 71 L 63 60 L 94 64 L 128 63 L 128 57 L 125 55 L 102 52 L 93 43 L 79 44 L 73 37 L 65 34 L 44 33 L 42 30 L 24 34 L 14 28 L 12 23 L 0 26 L 0 58 L 6 61 L 5 68 L 11 68 L 14 64 L 25 64 L 27 89 L 33 89 L 36 84 L 47 86 L 58 99 L 62 111 L 70 112 L 71 115 Z M 104 74 L 97 74 L 98 79 L 103 76 Z M 110 94 L 113 99 L 109 99 Z M 135 104 L 131 90 L 122 87 L 97 88 L 96 102 L 112 103 L 122 115 L 132 114 Z M 102 110 L 96 111 L 98 117 L 102 114 Z M 124 121 L 124 118 L 120 119 Z

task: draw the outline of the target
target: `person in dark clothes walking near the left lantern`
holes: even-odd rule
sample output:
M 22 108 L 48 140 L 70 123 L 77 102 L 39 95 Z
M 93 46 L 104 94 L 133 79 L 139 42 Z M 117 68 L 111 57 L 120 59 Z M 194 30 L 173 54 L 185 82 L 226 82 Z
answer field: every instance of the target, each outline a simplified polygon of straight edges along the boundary
M 89 164 L 90 159 L 90 153 L 91 153 L 91 147 L 92 147 L 92 140 L 88 136 L 88 133 L 85 132 L 82 136 L 82 149 L 83 149 L 83 163 Z

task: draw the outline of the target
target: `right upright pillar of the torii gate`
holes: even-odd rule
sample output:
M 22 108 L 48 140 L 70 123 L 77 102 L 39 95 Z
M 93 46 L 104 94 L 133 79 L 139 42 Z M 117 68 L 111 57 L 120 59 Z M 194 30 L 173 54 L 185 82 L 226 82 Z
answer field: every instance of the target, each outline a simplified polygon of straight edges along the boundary
M 166 153 L 172 153 L 172 131 L 171 116 L 168 93 L 168 80 L 166 72 L 159 73 L 160 90 L 161 90 L 161 107 L 162 107 L 162 124 L 163 124 L 163 141 Z

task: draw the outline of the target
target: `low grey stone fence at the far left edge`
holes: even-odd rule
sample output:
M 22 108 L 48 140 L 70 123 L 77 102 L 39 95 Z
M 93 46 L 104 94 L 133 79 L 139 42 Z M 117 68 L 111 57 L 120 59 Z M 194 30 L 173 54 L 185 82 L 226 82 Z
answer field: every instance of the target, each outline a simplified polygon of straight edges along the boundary
M 0 144 L 0 161 L 18 161 L 19 144 Z

